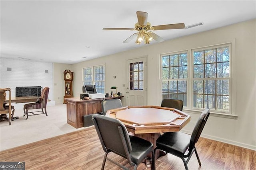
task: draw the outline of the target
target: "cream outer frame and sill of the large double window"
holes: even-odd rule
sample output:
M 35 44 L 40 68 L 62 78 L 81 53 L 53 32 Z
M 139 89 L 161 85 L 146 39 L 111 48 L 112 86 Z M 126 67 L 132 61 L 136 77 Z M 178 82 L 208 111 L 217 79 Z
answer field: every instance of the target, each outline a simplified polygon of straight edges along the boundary
M 194 80 L 194 54 L 193 51 L 200 51 L 200 50 L 208 50 L 212 48 L 219 48 L 219 47 L 229 47 L 229 111 L 219 111 L 212 109 L 211 113 L 212 115 L 216 115 L 218 117 L 226 117 L 231 119 L 236 119 L 238 116 L 235 113 L 235 106 L 236 106 L 236 84 L 234 82 L 236 81 L 236 40 L 227 41 L 225 43 L 219 43 L 215 45 L 209 45 L 204 47 L 198 47 L 198 48 L 191 48 L 188 50 L 182 50 L 182 51 L 175 51 L 170 53 L 164 53 L 159 55 L 159 65 L 160 65 L 160 101 L 162 101 L 162 56 L 164 55 L 170 55 L 174 53 L 182 53 L 184 51 L 187 51 L 187 62 L 188 62 L 188 82 L 187 82 L 187 106 L 183 107 L 184 110 L 190 112 L 190 113 L 201 113 L 201 111 L 204 108 L 196 108 L 193 107 L 193 80 Z M 221 78 L 220 78 L 221 79 Z

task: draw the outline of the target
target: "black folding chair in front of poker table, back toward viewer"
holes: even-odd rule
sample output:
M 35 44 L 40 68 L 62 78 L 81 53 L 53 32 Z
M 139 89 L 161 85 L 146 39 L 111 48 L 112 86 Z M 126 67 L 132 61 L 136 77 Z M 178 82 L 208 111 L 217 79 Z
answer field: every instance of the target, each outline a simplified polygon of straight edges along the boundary
M 152 169 L 155 169 L 154 148 L 149 141 L 139 137 L 128 135 L 124 124 L 118 120 L 104 115 L 95 114 L 92 121 L 96 128 L 100 143 L 105 152 L 101 169 L 104 169 L 106 160 L 128 170 L 125 166 L 108 158 L 109 152 L 114 152 L 126 158 L 130 165 L 137 169 L 138 164 L 144 160 L 148 154 L 152 154 Z

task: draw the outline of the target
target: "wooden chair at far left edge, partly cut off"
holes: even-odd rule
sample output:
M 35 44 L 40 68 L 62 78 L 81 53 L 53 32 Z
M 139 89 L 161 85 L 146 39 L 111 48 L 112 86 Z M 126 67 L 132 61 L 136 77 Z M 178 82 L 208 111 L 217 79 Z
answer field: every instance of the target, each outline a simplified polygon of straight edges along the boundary
M 4 104 L 6 100 L 6 92 L 9 93 L 8 106 Z M 11 105 L 11 89 L 10 88 L 0 88 L 0 115 L 9 115 L 9 125 L 12 124 L 12 115 L 14 114 L 14 106 Z

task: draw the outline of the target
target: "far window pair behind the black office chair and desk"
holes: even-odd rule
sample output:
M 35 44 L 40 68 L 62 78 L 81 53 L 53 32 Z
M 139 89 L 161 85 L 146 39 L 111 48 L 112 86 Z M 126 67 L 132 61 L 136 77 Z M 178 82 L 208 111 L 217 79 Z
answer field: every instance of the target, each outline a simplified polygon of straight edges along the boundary
M 105 93 L 105 66 L 93 66 L 83 69 L 83 84 L 95 84 L 98 93 Z

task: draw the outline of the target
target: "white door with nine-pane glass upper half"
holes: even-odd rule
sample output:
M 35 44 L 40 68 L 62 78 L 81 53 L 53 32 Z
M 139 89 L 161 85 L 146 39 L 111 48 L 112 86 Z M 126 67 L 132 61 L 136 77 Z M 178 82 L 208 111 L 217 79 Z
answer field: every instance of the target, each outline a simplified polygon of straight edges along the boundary
M 126 106 L 146 106 L 146 57 L 126 61 Z

